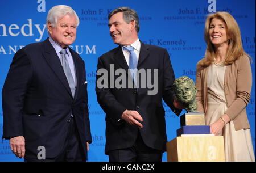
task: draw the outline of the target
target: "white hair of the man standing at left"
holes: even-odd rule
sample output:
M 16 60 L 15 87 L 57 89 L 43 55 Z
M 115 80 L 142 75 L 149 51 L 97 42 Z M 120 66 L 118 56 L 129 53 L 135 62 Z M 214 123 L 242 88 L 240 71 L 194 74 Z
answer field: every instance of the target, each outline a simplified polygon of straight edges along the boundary
M 52 27 L 56 27 L 58 19 L 63 18 L 66 14 L 75 16 L 76 26 L 79 26 L 79 17 L 76 12 L 71 7 L 65 5 L 54 6 L 49 10 L 46 18 L 46 24 L 49 22 Z M 47 32 L 49 33 L 48 28 Z

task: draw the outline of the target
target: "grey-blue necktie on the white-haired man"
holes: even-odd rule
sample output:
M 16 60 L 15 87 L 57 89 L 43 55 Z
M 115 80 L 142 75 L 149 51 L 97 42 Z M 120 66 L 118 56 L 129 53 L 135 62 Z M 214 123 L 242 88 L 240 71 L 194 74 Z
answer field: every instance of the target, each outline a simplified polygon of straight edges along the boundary
M 69 84 L 69 87 L 71 89 L 72 96 L 74 98 L 75 92 L 76 92 L 76 86 L 75 86 L 75 81 L 73 79 L 71 70 L 70 70 L 69 65 L 68 65 L 68 60 L 67 60 L 66 54 L 67 54 L 67 50 L 65 50 L 65 49 L 60 50 L 60 55 L 61 55 L 60 63 L 63 66 L 64 73 L 65 73 L 65 75 L 68 79 L 68 84 Z

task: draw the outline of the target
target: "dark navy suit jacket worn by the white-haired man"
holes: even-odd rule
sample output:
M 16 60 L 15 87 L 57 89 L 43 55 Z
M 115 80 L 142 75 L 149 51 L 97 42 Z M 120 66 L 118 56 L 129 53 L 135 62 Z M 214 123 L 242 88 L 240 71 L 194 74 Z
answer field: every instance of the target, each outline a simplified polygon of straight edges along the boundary
M 87 157 L 86 141 L 92 139 L 85 64 L 79 54 L 69 50 L 77 77 L 74 99 L 59 57 L 48 39 L 18 50 L 10 65 L 2 90 L 3 138 L 24 136 L 26 154 L 37 155 L 38 146 L 44 146 L 46 157 L 56 157 L 63 149 L 67 120 L 72 113 Z

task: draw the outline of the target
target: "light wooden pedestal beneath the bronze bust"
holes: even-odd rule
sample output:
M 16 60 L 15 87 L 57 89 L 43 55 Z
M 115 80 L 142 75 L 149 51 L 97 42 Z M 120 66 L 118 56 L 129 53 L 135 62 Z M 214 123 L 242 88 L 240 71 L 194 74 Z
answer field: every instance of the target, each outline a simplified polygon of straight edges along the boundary
M 224 138 L 213 134 L 183 134 L 167 142 L 168 162 L 225 162 Z

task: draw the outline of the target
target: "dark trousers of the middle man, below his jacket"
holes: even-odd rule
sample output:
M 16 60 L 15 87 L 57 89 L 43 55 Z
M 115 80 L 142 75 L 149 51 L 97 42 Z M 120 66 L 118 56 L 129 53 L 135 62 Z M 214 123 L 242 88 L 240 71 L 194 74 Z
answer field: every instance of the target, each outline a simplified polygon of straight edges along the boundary
M 146 146 L 138 133 L 135 144 L 127 149 L 108 152 L 109 162 L 161 162 L 163 152 Z

